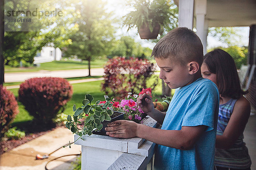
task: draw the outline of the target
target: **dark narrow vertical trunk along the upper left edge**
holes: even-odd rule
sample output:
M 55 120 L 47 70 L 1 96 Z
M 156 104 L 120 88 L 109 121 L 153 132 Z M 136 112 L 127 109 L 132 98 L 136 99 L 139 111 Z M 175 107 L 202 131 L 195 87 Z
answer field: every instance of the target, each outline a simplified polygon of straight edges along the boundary
M 0 85 L 3 85 L 3 82 L 4 82 L 3 36 L 4 36 L 4 0 L 0 0 Z

